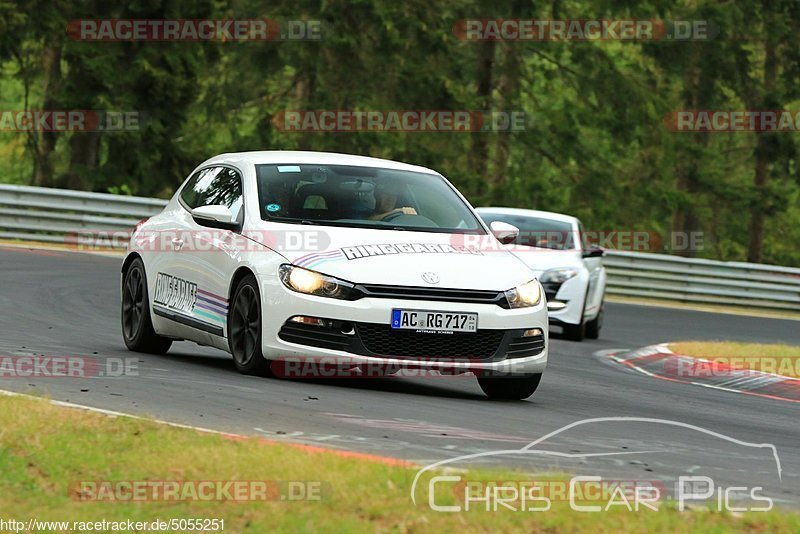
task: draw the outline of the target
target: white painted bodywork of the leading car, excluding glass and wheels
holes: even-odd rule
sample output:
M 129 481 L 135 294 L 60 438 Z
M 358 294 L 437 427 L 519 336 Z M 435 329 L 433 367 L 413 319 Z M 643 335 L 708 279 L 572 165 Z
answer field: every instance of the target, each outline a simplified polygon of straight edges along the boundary
M 476 361 L 471 364 L 471 367 L 519 375 L 544 371 L 549 348 L 547 308 L 544 295 L 536 306 L 505 309 L 494 304 L 437 300 L 365 297 L 346 301 L 301 294 L 287 288 L 278 277 L 278 267 L 287 263 L 301 265 L 358 284 L 502 292 L 534 278 L 534 273 L 510 252 L 501 254 L 435 253 L 430 250 L 421 252 L 418 248 L 414 249 L 415 245 L 425 247 L 453 244 L 453 235 L 451 234 L 324 225 L 307 226 L 263 220 L 259 207 L 255 165 L 314 163 L 412 170 L 430 174 L 432 179 L 444 180 L 438 173 L 422 167 L 342 154 L 274 151 L 223 154 L 211 158 L 193 170 L 189 176 L 213 165 L 230 166 L 239 171 L 243 179 L 244 194 L 244 220 L 241 233 L 233 230 L 209 229 L 196 222 L 179 201 L 181 193 L 181 189 L 179 189 L 165 209 L 159 215 L 137 227 L 131 238 L 126 261 L 131 255 L 138 255 L 143 259 L 147 274 L 151 318 L 156 333 L 229 351 L 227 306 L 234 289 L 231 286 L 232 279 L 237 269 L 247 268 L 256 276 L 260 288 L 264 317 L 262 321 L 262 353 L 267 359 L 289 356 L 322 359 L 342 356 L 351 362 L 402 362 L 419 367 L 447 367 L 449 364 L 443 363 L 442 360 L 431 362 L 424 359 L 415 360 L 407 356 L 393 359 L 386 356 L 359 355 L 289 343 L 278 336 L 284 322 L 295 315 L 388 325 L 392 309 L 403 308 L 475 312 L 478 314 L 478 328 L 481 330 L 541 328 L 545 336 L 545 348 L 536 356 L 508 361 Z M 463 196 L 461 199 L 472 210 Z M 314 244 L 311 247 L 275 246 L 272 237 L 285 232 L 311 233 L 318 239 L 312 240 Z M 204 239 L 202 236 L 210 237 Z M 187 246 L 187 237 L 196 242 Z M 244 246 L 242 246 L 243 244 Z M 379 250 L 381 253 L 369 257 L 348 257 L 347 251 L 351 247 L 371 245 L 373 247 L 370 250 Z M 386 247 L 387 245 L 391 246 Z M 397 250 L 398 247 L 405 249 L 406 252 L 385 252 L 386 250 Z M 199 248 L 202 250 L 198 250 Z M 352 256 L 352 250 L 350 250 L 350 255 Z M 425 282 L 422 279 L 422 274 L 425 272 L 437 273 L 440 276 L 439 282 L 437 284 Z M 196 287 L 192 289 L 196 302 L 191 309 L 187 306 L 185 310 L 180 310 L 180 313 L 201 322 L 203 330 L 153 312 L 159 273 L 163 273 L 162 277 L 169 275 L 196 284 Z M 162 278 L 162 283 L 163 280 L 164 278 Z M 214 328 L 218 328 L 218 331 L 208 331 Z M 454 368 L 463 367 L 457 363 L 453 363 L 452 366 Z

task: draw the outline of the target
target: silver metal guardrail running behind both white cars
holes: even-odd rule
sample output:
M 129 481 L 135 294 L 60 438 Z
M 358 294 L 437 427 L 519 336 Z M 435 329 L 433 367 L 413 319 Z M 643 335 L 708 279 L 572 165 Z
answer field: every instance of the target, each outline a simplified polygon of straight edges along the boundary
M 0 238 L 65 242 L 91 231 L 126 235 L 166 201 L 0 184 Z M 124 243 L 119 239 L 114 243 Z M 800 269 L 608 251 L 607 293 L 697 304 L 800 311 Z

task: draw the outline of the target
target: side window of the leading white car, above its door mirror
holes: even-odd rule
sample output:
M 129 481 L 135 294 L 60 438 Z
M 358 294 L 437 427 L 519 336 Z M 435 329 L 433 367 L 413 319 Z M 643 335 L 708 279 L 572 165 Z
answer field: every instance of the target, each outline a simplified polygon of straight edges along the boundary
M 230 208 L 234 220 L 242 211 L 242 176 L 230 167 L 209 167 L 196 172 L 181 190 L 189 209 L 221 204 Z

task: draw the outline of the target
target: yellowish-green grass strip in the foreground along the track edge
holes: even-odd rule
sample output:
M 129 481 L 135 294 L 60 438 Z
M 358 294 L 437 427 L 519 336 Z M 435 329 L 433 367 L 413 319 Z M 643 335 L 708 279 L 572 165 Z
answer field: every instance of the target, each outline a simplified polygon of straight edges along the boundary
M 416 468 L 386 465 L 287 444 L 237 440 L 147 420 L 0 397 L 0 510 L 5 519 L 150 521 L 224 519 L 226 532 L 797 532 L 800 518 L 779 512 L 734 517 L 679 513 L 575 513 L 556 502 L 547 512 L 441 513 L 409 497 Z M 475 470 L 472 480 L 521 473 Z M 552 478 L 552 477 L 550 477 Z M 321 499 L 295 502 L 81 502 L 75 484 L 97 480 L 320 481 Z M 427 488 L 428 477 L 422 487 Z M 438 493 L 437 493 L 438 495 Z M 453 492 L 437 496 L 452 504 Z

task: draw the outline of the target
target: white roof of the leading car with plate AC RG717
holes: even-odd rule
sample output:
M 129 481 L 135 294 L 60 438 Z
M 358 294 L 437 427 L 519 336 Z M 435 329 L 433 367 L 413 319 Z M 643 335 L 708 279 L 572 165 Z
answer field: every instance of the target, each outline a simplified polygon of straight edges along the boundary
M 321 164 L 321 165 L 352 165 L 355 167 L 378 167 L 381 169 L 394 169 L 400 171 L 422 172 L 439 175 L 438 172 L 410 165 L 399 161 L 372 158 L 368 156 L 354 156 L 352 154 L 337 154 L 335 152 L 310 152 L 302 150 L 261 150 L 254 152 L 231 152 L 219 154 L 203 162 L 203 166 L 214 163 L 252 163 L 253 165 L 286 164 Z

